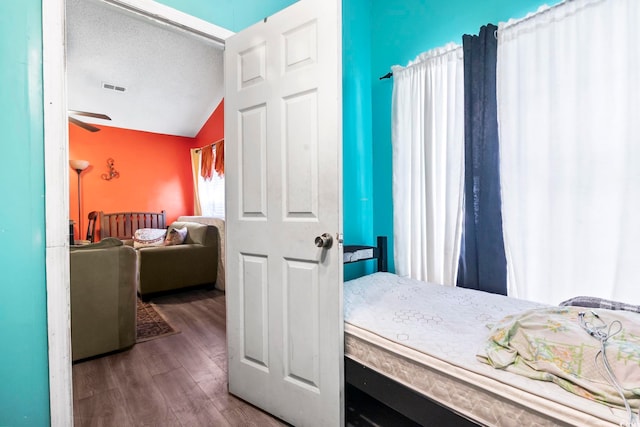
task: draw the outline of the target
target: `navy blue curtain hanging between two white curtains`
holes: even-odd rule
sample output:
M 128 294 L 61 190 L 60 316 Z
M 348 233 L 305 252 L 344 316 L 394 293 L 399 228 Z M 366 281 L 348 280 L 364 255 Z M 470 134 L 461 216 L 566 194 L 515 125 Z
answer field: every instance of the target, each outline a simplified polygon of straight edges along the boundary
M 502 238 L 495 25 L 464 35 L 465 212 L 458 286 L 507 294 Z

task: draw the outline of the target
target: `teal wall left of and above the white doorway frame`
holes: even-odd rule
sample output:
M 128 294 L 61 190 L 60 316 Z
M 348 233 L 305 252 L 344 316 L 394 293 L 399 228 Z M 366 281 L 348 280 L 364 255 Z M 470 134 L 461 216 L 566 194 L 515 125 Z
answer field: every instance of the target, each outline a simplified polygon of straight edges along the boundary
M 0 426 L 50 421 L 41 1 L 0 1 Z M 293 2 L 162 1 L 233 31 Z

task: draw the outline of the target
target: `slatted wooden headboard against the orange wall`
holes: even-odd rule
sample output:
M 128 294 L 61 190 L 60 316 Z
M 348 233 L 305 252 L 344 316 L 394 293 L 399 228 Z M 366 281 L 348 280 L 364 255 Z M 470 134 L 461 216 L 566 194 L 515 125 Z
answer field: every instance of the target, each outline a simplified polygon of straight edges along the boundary
M 139 228 L 166 228 L 165 211 L 161 212 L 100 212 L 100 238 L 132 239 Z

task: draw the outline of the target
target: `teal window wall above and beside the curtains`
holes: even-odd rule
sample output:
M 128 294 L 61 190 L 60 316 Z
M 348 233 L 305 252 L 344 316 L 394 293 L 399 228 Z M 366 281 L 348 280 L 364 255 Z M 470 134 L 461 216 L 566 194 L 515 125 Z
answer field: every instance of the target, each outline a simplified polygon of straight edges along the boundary
M 462 44 L 463 34 L 477 34 L 487 23 L 534 12 L 543 0 L 385 0 L 372 1 L 371 99 L 373 103 L 373 234 L 390 237 L 393 271 L 393 200 L 391 194 L 392 79 L 378 80 L 392 65 L 406 65 L 418 54 L 448 42 Z

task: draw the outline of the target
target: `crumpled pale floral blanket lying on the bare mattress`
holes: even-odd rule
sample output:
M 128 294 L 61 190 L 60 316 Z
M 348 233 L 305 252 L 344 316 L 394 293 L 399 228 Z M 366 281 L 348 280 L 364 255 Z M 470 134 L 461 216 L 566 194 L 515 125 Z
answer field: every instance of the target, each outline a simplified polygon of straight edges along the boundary
M 580 307 L 545 307 L 507 316 L 492 329 L 477 358 L 498 369 L 529 378 L 551 381 L 565 390 L 598 402 L 624 403 L 608 380 L 602 364 L 600 341 L 580 325 Z M 622 330 L 607 340 L 606 355 L 625 398 L 640 407 L 640 314 L 598 309 L 610 325 Z M 592 317 L 587 311 L 587 318 Z M 614 325 L 611 331 L 617 330 Z M 607 328 L 604 331 L 608 331 Z

